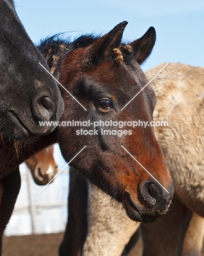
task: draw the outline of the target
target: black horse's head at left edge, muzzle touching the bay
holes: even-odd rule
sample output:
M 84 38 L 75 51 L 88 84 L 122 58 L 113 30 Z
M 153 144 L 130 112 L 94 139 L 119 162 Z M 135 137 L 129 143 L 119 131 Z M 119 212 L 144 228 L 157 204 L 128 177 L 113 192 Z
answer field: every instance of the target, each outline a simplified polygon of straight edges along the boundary
M 63 112 L 58 86 L 39 65 L 47 64 L 28 37 L 12 0 L 0 0 L 0 132 L 5 139 L 45 135 Z

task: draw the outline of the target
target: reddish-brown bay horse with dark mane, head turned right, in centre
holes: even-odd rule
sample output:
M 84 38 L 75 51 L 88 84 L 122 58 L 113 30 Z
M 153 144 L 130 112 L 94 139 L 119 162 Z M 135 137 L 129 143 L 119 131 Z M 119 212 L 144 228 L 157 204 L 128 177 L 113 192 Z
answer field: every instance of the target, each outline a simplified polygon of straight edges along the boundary
M 98 127 L 98 136 L 81 136 L 76 134 L 76 127 L 61 125 L 69 120 L 152 121 L 155 95 L 147 85 L 140 64 L 151 54 L 155 30 L 151 27 L 134 42 L 121 44 L 126 25 L 124 21 L 98 38 L 84 36 L 73 43 L 48 39 L 39 46 L 49 66 L 55 68 L 53 74 L 59 83 L 87 110 L 60 86 L 65 111 L 60 125 L 52 133 L 29 139 L 29 143 L 18 139 L 1 144 L 1 237 L 20 189 L 18 165 L 33 153 L 56 142 L 67 162 L 86 146 L 70 165 L 122 202 L 129 218 L 148 222 L 166 213 L 172 199 L 173 185 L 152 127 L 136 127 L 132 136 L 126 133 L 119 137 L 102 135 L 101 127 Z M 142 88 L 136 100 L 124 108 Z M 141 162 L 164 189 L 121 146 Z

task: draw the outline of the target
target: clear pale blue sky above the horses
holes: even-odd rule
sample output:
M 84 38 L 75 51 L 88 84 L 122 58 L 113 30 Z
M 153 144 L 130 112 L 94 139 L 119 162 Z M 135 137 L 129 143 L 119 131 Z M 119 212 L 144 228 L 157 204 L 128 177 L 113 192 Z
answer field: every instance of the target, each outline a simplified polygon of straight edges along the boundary
M 124 42 L 141 37 L 150 26 L 157 32 L 144 70 L 163 62 L 204 67 L 203 0 L 16 0 L 15 6 L 34 43 L 58 32 L 72 38 L 82 33 L 104 34 L 127 20 Z

